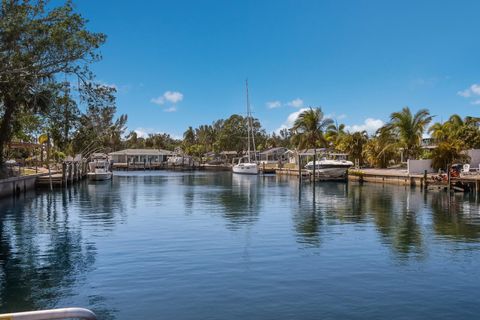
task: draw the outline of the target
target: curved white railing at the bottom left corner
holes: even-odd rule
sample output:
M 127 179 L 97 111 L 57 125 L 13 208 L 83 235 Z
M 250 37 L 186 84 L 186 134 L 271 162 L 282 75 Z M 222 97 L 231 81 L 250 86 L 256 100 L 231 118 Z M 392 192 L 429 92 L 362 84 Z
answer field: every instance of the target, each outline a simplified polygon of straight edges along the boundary
M 51 319 L 85 319 L 97 320 L 95 313 L 83 308 L 63 308 L 40 311 L 27 311 L 0 314 L 0 320 L 51 320 Z

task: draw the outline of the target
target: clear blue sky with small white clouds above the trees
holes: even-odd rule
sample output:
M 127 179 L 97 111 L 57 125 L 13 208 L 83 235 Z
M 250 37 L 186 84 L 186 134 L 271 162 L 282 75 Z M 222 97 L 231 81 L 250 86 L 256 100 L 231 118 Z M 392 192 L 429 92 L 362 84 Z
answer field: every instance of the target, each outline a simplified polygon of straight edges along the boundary
M 374 130 L 391 112 L 479 116 L 480 1 L 88 1 L 94 66 L 129 130 L 181 136 L 253 112 L 267 131 L 306 106 Z

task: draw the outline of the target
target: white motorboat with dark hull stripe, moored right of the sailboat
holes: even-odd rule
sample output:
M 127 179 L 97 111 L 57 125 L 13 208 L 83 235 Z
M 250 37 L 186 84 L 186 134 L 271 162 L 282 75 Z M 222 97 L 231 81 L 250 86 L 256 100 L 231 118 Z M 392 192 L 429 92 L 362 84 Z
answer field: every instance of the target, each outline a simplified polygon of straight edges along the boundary
M 315 175 L 320 179 L 346 178 L 347 170 L 353 167 L 353 162 L 348 161 L 343 153 L 328 153 L 315 161 Z M 313 173 L 313 161 L 305 166 L 305 169 Z

